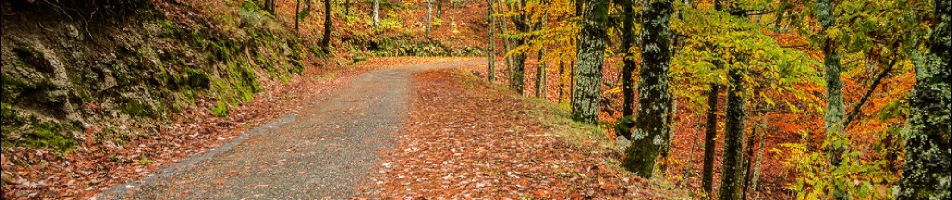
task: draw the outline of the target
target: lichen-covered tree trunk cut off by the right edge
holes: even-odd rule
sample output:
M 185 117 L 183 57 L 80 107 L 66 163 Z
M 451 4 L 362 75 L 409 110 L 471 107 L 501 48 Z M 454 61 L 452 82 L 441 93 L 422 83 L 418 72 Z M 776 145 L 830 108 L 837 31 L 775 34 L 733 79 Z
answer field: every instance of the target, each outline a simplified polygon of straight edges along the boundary
M 897 199 L 952 199 L 952 1 L 935 0 L 931 44 L 917 56 Z M 921 60 L 917 59 L 917 60 Z

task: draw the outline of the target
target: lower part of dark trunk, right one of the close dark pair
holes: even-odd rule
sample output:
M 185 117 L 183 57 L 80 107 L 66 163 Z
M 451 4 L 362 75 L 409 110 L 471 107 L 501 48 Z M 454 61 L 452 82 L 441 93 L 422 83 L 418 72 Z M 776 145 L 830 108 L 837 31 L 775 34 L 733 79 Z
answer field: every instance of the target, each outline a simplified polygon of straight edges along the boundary
M 742 199 L 744 185 L 744 75 L 730 69 L 724 118 L 724 163 L 721 167 L 720 199 Z

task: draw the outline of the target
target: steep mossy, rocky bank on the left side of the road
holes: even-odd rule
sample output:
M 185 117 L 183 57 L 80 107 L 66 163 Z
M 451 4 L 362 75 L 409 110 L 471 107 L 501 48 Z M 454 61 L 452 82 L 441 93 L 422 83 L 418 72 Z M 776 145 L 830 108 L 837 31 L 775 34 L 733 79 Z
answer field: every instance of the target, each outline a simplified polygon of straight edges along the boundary
M 199 99 L 224 117 L 323 56 L 249 2 L 211 18 L 173 3 L 50 2 L 2 2 L 5 150 L 158 134 Z

